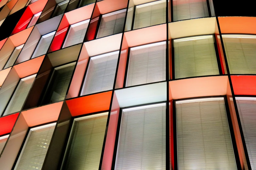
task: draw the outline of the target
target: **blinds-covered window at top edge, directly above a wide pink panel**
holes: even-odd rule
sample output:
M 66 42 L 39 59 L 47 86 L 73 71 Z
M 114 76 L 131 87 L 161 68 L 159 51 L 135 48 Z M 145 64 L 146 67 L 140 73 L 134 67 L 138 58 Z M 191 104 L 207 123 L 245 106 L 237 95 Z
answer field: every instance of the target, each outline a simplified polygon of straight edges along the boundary
M 133 29 L 144 28 L 166 22 L 166 0 L 137 5 Z

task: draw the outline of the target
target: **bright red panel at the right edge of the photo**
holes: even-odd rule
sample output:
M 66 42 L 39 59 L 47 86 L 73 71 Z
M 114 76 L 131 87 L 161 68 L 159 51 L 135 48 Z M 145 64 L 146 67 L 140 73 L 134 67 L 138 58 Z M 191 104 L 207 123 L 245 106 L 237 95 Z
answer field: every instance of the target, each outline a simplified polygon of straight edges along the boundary
M 231 76 L 235 95 L 256 95 L 256 76 Z

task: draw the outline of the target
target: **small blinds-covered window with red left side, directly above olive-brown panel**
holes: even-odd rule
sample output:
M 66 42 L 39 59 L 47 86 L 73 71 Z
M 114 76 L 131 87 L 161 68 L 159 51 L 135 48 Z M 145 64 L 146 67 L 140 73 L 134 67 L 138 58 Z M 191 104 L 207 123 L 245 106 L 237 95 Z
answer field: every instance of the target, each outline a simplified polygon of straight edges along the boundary
M 81 21 L 70 25 L 66 40 L 63 47 L 69 47 L 75 44 L 82 43 L 90 20 Z

